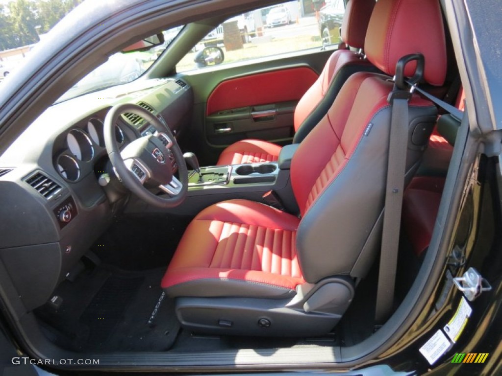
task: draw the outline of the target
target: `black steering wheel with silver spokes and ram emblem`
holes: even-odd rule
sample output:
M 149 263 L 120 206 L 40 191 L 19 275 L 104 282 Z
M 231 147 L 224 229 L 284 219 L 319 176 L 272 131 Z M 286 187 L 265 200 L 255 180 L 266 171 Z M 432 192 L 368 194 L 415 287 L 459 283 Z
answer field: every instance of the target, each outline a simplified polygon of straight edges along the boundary
M 155 128 L 154 134 L 140 137 L 119 150 L 115 124 L 123 113 L 141 116 Z M 176 138 L 157 116 L 136 104 L 113 106 L 104 119 L 104 143 L 120 180 L 140 199 L 160 208 L 173 208 L 185 199 L 188 170 Z M 174 173 L 179 171 L 179 179 Z M 158 187 L 167 195 L 149 189 Z

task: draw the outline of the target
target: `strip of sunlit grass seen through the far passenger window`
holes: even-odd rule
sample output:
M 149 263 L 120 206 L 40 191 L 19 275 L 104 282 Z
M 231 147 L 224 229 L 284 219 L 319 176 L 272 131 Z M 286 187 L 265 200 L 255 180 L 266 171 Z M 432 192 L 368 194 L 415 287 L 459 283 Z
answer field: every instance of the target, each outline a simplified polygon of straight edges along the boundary
M 244 48 L 234 51 L 226 51 L 225 60 L 223 64 L 244 61 L 248 59 L 256 59 L 266 56 L 273 56 L 284 54 L 288 52 L 295 52 L 306 50 L 309 48 L 321 47 L 322 43 L 320 38 L 315 36 L 295 36 L 287 38 L 274 38 L 271 42 L 263 43 L 246 43 Z M 193 61 L 195 52 L 190 52 L 176 65 L 177 72 L 185 72 L 196 69 Z

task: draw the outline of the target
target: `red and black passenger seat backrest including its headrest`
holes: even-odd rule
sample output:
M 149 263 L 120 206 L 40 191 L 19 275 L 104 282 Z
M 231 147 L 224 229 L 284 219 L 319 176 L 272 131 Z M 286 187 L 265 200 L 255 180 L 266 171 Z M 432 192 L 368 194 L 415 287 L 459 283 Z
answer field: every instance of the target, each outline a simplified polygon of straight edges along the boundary
M 379 71 L 364 55 L 348 49 L 348 46 L 363 48 L 374 5 L 374 0 L 350 0 L 347 3 L 340 33 L 347 49 L 331 54 L 319 78 L 298 102 L 294 115 L 296 133 L 293 143 L 300 143 L 326 114 L 350 75 L 360 71 Z

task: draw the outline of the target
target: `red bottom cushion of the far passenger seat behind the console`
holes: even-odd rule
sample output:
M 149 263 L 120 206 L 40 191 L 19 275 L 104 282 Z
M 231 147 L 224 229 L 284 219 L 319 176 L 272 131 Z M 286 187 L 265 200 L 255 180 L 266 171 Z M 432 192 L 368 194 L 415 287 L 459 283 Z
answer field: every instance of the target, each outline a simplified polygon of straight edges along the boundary
M 242 140 L 228 146 L 220 154 L 217 165 L 274 162 L 282 147 L 262 140 Z

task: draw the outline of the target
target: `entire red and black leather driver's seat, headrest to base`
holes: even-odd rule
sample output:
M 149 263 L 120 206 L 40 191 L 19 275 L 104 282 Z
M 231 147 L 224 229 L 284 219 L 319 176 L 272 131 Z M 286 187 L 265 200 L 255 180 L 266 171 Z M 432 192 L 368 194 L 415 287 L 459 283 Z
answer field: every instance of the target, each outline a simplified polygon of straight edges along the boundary
M 424 80 L 442 85 L 445 78 L 439 2 L 379 0 L 365 50 L 387 75 L 352 75 L 293 156 L 291 183 L 301 219 L 230 200 L 206 208 L 188 226 L 162 280 L 184 327 L 313 336 L 327 333 L 345 312 L 355 280 L 366 275 L 380 244 L 390 76 L 402 56 L 422 53 Z M 409 64 L 405 75 L 413 73 Z M 418 165 L 429 137 L 423 134 L 418 138 L 424 144 L 416 144 L 412 134 L 432 129 L 436 116 L 433 103 L 413 94 L 408 171 Z

